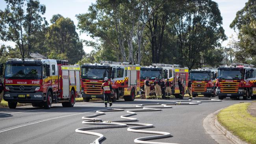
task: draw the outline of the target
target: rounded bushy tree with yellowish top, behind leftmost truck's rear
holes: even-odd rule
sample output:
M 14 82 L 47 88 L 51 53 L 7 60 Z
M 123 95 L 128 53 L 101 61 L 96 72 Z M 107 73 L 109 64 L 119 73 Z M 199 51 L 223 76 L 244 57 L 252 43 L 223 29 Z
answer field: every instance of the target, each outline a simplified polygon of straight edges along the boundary
M 76 33 L 76 26 L 70 18 L 61 15 L 53 15 L 46 33 L 49 50 L 54 50 L 56 54 L 67 55 L 70 63 L 76 63 L 85 54 L 83 44 Z

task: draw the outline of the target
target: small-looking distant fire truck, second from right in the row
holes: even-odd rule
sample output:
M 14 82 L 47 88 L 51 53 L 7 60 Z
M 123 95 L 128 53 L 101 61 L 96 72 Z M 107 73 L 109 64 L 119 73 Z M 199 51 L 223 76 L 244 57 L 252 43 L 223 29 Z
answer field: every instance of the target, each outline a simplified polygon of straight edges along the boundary
M 215 88 L 217 79 L 217 69 L 201 68 L 190 70 L 190 79 L 192 81 L 192 96 L 195 98 L 198 94 L 211 97 Z

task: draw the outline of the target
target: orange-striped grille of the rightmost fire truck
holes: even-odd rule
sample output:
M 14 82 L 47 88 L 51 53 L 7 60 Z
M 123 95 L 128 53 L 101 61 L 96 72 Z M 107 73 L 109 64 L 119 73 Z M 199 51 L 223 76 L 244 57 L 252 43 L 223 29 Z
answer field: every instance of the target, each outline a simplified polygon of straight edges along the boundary
M 223 93 L 237 93 L 238 92 L 237 82 L 220 82 L 221 92 Z

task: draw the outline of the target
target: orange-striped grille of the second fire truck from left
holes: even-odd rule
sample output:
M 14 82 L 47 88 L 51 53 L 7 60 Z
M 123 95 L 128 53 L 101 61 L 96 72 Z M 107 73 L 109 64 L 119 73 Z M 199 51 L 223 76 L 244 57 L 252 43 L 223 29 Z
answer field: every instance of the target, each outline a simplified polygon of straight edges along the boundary
M 100 82 L 83 82 L 83 86 L 85 94 L 103 94 L 102 83 Z

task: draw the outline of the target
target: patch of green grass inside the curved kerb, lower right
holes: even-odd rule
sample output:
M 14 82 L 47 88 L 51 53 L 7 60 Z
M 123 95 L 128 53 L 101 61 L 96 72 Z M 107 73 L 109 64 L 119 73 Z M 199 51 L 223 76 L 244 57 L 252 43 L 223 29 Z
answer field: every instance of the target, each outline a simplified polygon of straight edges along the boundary
M 231 105 L 217 114 L 219 122 L 234 135 L 256 144 L 256 117 L 247 112 L 250 103 Z

